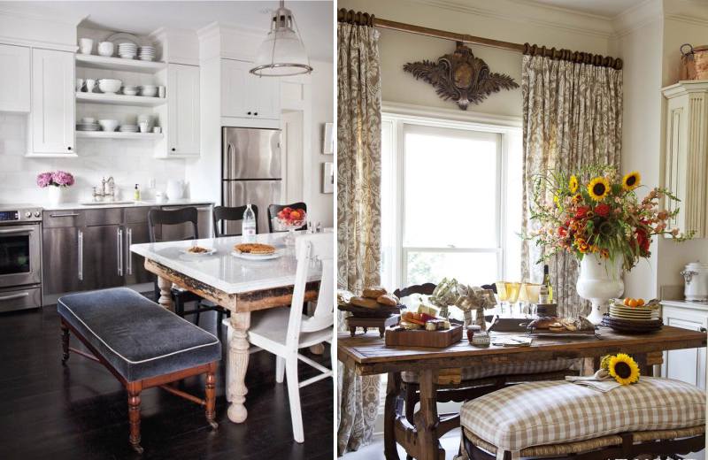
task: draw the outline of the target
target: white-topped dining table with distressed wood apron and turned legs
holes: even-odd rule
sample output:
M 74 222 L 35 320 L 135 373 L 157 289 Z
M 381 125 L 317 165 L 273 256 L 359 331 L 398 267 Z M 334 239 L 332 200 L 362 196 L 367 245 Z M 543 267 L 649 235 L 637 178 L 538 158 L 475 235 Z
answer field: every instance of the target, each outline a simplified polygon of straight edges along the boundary
M 245 384 L 249 364 L 248 331 L 250 313 L 282 306 L 292 301 L 297 261 L 293 246 L 284 242 L 284 233 L 258 234 L 257 242 L 278 248 L 281 256 L 270 260 L 244 260 L 232 254 L 241 236 L 202 240 L 134 244 L 130 250 L 145 257 L 145 268 L 158 275 L 158 303 L 173 310 L 173 285 L 231 311 L 233 333 L 227 349 L 231 405 L 228 418 L 242 423 L 248 417 Z M 186 253 L 190 246 L 216 249 L 212 255 Z M 321 271 L 312 268 L 307 280 L 305 301 L 317 299 Z M 220 325 L 219 325 L 220 326 Z

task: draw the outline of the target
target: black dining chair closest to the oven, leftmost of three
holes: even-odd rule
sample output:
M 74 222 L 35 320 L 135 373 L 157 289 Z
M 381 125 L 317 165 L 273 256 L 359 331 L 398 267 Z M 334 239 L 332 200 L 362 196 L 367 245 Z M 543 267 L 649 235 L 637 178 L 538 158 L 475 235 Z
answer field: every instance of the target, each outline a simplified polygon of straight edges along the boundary
M 164 242 L 168 241 L 162 239 L 162 233 L 165 231 L 165 226 L 184 226 L 191 224 L 192 235 L 183 238 L 184 240 L 198 240 L 199 239 L 199 229 L 197 227 L 197 216 L 198 211 L 196 208 L 188 207 L 182 208 L 174 211 L 166 210 L 150 210 L 148 211 L 148 233 L 150 234 L 150 242 Z M 159 234 L 156 232 L 159 226 Z M 159 297 L 158 281 L 155 280 L 155 291 L 156 296 Z M 174 301 L 174 312 L 184 318 L 187 315 L 196 315 L 196 325 L 199 325 L 200 313 L 204 311 L 216 311 L 217 312 L 217 329 L 219 330 L 219 325 L 221 324 L 221 319 L 224 317 L 226 310 L 219 305 L 206 304 L 202 297 L 194 294 L 186 289 L 177 288 L 173 286 L 170 292 Z M 196 308 L 194 310 L 184 311 L 184 304 L 188 302 L 196 302 Z

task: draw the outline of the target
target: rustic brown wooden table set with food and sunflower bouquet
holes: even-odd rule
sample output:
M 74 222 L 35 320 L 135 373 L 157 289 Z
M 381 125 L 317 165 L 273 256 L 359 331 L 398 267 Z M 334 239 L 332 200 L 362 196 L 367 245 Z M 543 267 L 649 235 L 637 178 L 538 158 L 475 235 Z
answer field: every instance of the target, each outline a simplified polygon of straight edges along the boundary
M 492 334 L 492 341 L 496 333 Z M 513 335 L 513 334 L 512 334 Z M 516 334 L 518 335 L 518 334 Z M 387 347 L 379 334 L 340 333 L 337 357 L 359 375 L 388 373 L 384 414 L 384 454 L 397 459 L 396 444 L 419 460 L 444 460 L 445 451 L 438 433 L 445 433 L 458 423 L 453 418 L 438 416 L 436 384 L 443 369 L 474 365 L 541 361 L 559 357 L 589 358 L 596 364 L 604 355 L 628 353 L 650 375 L 646 355 L 671 349 L 696 349 L 706 345 L 706 334 L 679 327 L 664 326 L 654 334 L 620 334 L 600 327 L 596 335 L 585 337 L 539 336 L 527 347 L 475 347 L 466 339 L 445 349 Z M 415 426 L 396 410 L 400 403 L 401 372 L 419 373 L 420 405 Z

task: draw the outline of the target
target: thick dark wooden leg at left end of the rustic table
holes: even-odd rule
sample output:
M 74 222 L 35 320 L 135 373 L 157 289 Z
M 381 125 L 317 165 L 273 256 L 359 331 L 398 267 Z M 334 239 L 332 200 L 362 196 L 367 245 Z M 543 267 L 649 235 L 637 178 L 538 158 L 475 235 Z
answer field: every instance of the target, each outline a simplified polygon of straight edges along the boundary
M 440 418 L 437 415 L 437 370 L 424 369 L 420 371 L 420 410 L 415 414 L 415 427 L 418 432 L 420 446 L 419 460 L 444 460 L 445 450 L 440 445 L 437 426 Z

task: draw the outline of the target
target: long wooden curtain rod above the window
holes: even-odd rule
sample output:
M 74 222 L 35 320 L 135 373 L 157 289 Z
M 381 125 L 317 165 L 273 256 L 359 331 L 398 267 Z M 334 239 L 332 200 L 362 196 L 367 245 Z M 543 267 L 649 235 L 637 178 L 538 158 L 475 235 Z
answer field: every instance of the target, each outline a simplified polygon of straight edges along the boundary
M 611 58 L 609 56 L 573 50 L 557 50 L 555 48 L 546 48 L 545 46 L 531 45 L 529 43 L 520 44 L 504 42 L 501 40 L 492 40 L 490 38 L 478 37 L 474 35 L 458 34 L 456 32 L 449 32 L 430 27 L 413 26 L 412 24 L 405 24 L 403 22 L 376 18 L 373 14 L 369 14 L 367 12 L 355 12 L 354 10 L 346 10 L 344 8 L 337 12 L 337 21 L 356 24 L 358 26 L 387 28 L 400 32 L 408 32 L 410 34 L 452 40 L 454 42 L 473 43 L 492 48 L 499 48 L 501 50 L 512 50 L 522 54 L 527 54 L 529 56 L 543 56 L 546 58 L 561 59 L 575 63 L 611 67 L 617 70 L 622 68 L 622 59 L 620 58 Z

